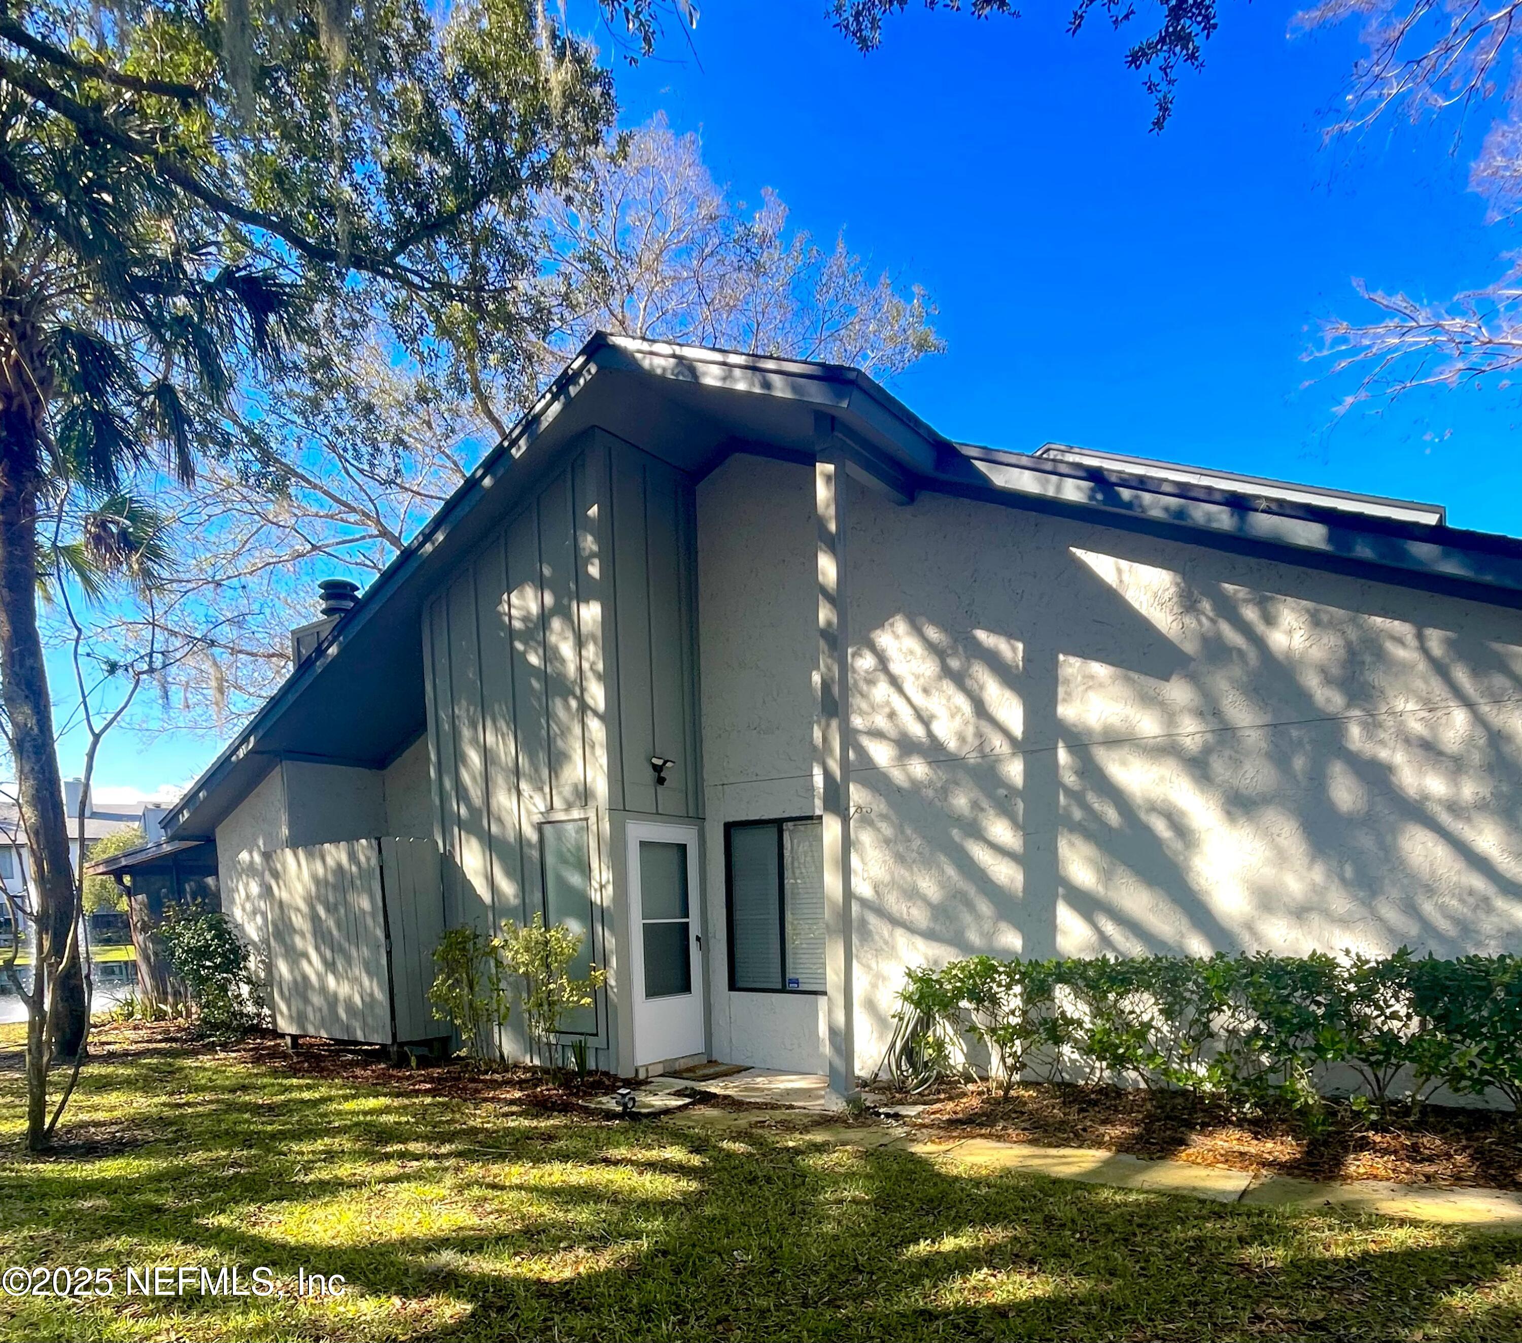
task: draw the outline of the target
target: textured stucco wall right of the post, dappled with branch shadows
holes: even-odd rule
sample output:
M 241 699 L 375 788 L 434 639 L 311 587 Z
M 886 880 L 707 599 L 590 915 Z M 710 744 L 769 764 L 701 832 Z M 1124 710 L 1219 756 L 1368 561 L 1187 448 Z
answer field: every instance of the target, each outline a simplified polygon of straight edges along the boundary
M 1517 612 L 936 496 L 851 544 L 861 1063 L 916 962 L 1522 941 Z

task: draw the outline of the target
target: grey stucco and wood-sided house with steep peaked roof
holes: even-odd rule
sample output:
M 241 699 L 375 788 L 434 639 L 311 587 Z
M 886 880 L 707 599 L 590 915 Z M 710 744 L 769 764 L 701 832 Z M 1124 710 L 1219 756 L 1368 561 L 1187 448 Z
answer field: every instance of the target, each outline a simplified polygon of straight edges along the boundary
M 437 845 L 444 923 L 586 932 L 626 1075 L 848 1090 L 904 968 L 977 952 L 1522 946 L 1522 542 L 1438 506 L 600 335 L 329 597 L 167 837 L 266 950 L 291 883 L 323 918 Z M 350 993 L 333 936 L 275 961 Z

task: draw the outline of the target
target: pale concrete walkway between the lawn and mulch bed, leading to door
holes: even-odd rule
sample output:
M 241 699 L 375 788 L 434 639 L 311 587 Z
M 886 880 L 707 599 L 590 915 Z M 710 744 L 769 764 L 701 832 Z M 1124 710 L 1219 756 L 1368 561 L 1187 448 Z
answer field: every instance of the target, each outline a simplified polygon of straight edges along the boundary
M 743 1083 L 746 1073 L 723 1078 Z M 787 1077 L 778 1073 L 776 1077 Z M 796 1075 L 794 1075 L 796 1078 Z M 804 1078 L 796 1078 L 799 1083 Z M 720 1090 L 723 1083 L 706 1083 L 703 1090 Z M 691 1086 L 688 1083 L 688 1086 Z M 772 1087 L 767 1093 L 767 1087 Z M 724 1090 L 735 1099 L 778 1101 L 790 1092 L 770 1080 L 752 1081 L 747 1093 Z M 793 1092 L 796 1095 L 796 1092 Z M 837 1099 L 837 1098 L 833 1098 Z M 836 1105 L 834 1109 L 839 1109 Z M 1501 1189 L 1444 1189 L 1432 1185 L 1390 1185 L 1379 1180 L 1318 1183 L 1288 1176 L 1254 1176 L 1222 1166 L 1193 1162 L 1146 1160 L 1126 1153 L 1085 1147 L 1030 1147 L 1023 1142 L 995 1142 L 986 1137 L 960 1140 L 918 1139 L 900 1125 L 887 1124 L 813 1124 L 817 1110 L 790 1104 L 784 1110 L 705 1110 L 671 1115 L 665 1122 L 708 1133 L 740 1133 L 756 1124 L 782 1128 L 790 1142 L 828 1142 L 861 1150 L 910 1151 L 938 1165 L 968 1174 L 1020 1171 L 1055 1180 L 1081 1180 L 1149 1194 L 1180 1194 L 1215 1203 L 1243 1203 L 1254 1207 L 1313 1211 L 1323 1207 L 1373 1212 L 1411 1221 L 1450 1223 L 1498 1232 L 1522 1232 L 1522 1194 Z

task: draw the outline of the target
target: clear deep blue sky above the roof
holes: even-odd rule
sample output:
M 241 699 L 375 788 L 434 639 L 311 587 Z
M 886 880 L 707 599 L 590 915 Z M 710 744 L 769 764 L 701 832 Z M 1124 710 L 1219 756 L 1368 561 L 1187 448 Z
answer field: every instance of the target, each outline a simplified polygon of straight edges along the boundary
M 1406 123 L 1324 146 L 1356 33 L 1288 40 L 1289 6 L 1224 5 L 1161 136 L 1128 40 L 1067 37 L 1065 5 L 915 9 L 863 56 L 826 0 L 708 0 L 696 58 L 668 40 L 616 81 L 626 123 L 664 110 L 735 195 L 773 187 L 796 225 L 845 227 L 930 291 L 947 353 L 895 391 L 951 437 L 1431 499 L 1455 525 L 1522 533 L 1516 390 L 1338 420 L 1342 388 L 1303 358 L 1323 320 L 1358 312 L 1352 277 L 1441 298 L 1522 245 L 1466 189 L 1482 123 L 1457 149 L 1452 126 Z M 61 751 L 75 772 L 82 743 Z M 96 777 L 184 783 L 215 751 L 122 732 Z

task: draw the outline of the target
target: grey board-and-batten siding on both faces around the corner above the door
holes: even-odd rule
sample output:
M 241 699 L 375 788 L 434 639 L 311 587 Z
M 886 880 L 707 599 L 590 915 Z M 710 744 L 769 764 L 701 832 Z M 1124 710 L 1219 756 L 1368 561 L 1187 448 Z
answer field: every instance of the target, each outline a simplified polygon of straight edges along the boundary
M 702 815 L 693 547 L 688 478 L 592 429 L 423 612 L 449 921 L 495 929 L 545 912 L 540 827 L 584 819 L 589 950 L 609 971 L 584 1023 L 600 1066 L 615 1066 L 627 1020 L 613 818 Z M 651 755 L 676 761 L 665 787 Z

